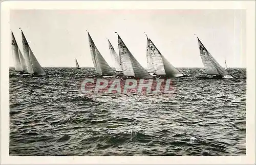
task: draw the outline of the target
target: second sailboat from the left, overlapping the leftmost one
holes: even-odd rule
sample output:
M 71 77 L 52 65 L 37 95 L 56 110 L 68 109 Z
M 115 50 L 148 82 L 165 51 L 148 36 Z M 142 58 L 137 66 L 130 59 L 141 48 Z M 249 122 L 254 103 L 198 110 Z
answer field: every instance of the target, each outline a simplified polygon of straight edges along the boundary
M 46 75 L 46 72 L 44 71 L 44 69 L 42 69 L 33 51 L 31 50 L 23 31 L 22 31 L 22 44 L 23 44 L 23 52 L 24 52 L 24 58 L 25 58 L 25 64 L 26 64 L 26 71 L 28 73 L 33 73 L 34 76 Z

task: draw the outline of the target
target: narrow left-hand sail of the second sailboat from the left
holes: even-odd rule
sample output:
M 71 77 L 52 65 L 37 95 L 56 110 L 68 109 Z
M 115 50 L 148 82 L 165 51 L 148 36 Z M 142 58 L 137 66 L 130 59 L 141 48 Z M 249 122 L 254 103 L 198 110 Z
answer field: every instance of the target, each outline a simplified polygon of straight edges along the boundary
M 29 44 L 23 32 L 22 32 L 22 45 L 23 45 L 24 59 L 25 59 L 26 68 L 27 68 L 26 70 L 28 71 L 28 73 L 34 73 L 31 65 L 30 57 L 29 57 Z

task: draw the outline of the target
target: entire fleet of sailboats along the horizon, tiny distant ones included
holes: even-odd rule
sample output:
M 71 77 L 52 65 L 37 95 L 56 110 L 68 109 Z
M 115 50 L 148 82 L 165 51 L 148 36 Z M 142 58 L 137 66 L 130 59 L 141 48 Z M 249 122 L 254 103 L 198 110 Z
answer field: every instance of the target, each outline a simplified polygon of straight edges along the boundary
M 13 32 L 12 36 L 12 56 L 14 61 L 14 68 L 17 75 L 34 75 L 34 76 L 44 76 L 46 72 L 41 67 L 37 61 L 33 51 L 31 50 L 28 41 L 22 33 L 22 44 L 23 44 L 23 54 L 20 51 Z M 116 32 L 115 32 L 116 33 Z M 154 76 L 160 77 L 182 77 L 184 76 L 177 68 L 170 64 L 167 59 L 162 55 L 159 49 L 155 46 L 153 41 L 147 37 L 146 42 L 146 60 L 147 60 L 147 70 L 142 67 L 142 65 L 136 60 L 130 50 L 127 48 L 121 37 L 117 34 L 118 39 L 118 53 L 115 51 L 110 40 L 109 50 L 112 60 L 114 62 L 114 67 L 116 72 L 110 65 L 105 61 L 96 47 L 91 35 L 88 32 L 89 47 L 91 52 L 91 58 L 95 67 L 95 72 L 100 76 L 117 76 L 118 72 L 121 72 L 123 76 L 135 77 L 135 78 L 153 78 Z M 200 56 L 202 63 L 204 65 L 207 75 L 212 75 L 217 78 L 233 78 L 228 72 L 226 60 L 225 68 L 222 67 L 214 57 L 211 56 L 209 51 L 202 44 L 200 39 L 198 39 Z M 80 66 L 75 59 L 76 67 L 80 69 Z M 120 73 L 119 73 L 120 74 Z

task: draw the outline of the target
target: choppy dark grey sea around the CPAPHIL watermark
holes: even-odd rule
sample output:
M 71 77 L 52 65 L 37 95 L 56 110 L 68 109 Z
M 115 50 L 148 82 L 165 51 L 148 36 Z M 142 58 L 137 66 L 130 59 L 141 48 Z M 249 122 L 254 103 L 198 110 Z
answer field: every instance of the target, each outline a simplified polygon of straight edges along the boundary
M 45 78 L 10 68 L 10 155 L 244 155 L 245 69 L 200 79 L 180 68 L 173 94 L 83 97 L 89 68 L 45 68 Z

